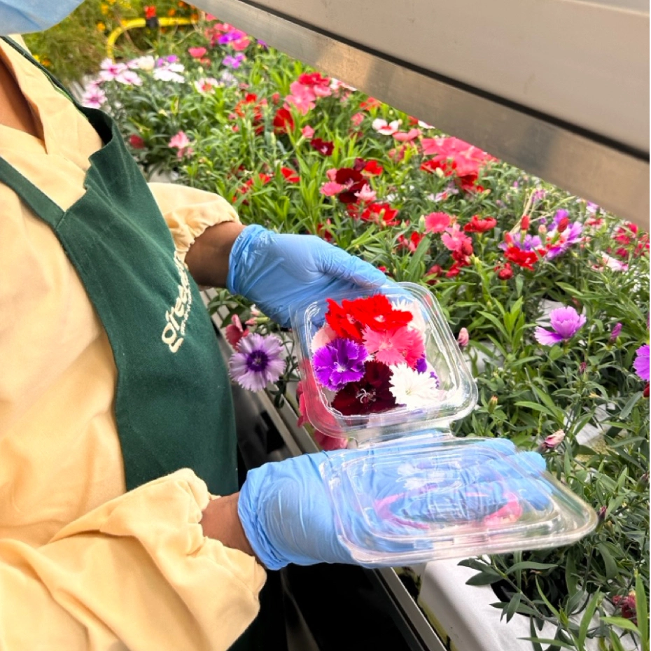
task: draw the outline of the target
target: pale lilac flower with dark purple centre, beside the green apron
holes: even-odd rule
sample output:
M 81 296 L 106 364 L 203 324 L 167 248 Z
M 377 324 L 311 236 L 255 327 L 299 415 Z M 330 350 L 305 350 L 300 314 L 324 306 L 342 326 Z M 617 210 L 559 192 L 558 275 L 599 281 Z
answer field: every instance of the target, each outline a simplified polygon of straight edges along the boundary
M 281 340 L 276 335 L 243 337 L 230 358 L 230 376 L 249 391 L 260 391 L 285 370 Z

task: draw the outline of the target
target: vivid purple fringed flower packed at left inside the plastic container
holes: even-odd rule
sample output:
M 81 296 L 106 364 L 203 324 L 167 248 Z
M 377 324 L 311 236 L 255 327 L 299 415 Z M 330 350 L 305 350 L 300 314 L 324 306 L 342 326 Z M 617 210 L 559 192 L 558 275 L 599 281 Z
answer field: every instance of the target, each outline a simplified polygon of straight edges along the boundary
M 368 351 L 362 344 L 337 337 L 314 353 L 312 365 L 316 378 L 325 388 L 339 391 L 349 382 L 362 379 L 367 357 Z

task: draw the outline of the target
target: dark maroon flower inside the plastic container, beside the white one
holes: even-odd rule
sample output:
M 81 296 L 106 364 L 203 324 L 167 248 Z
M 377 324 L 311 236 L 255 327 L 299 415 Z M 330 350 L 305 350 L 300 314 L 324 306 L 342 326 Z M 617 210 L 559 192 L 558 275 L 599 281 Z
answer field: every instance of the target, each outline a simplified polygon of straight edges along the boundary
M 349 382 L 332 400 L 332 407 L 344 416 L 378 414 L 395 407 L 391 393 L 391 370 L 380 362 L 366 362 L 362 379 Z

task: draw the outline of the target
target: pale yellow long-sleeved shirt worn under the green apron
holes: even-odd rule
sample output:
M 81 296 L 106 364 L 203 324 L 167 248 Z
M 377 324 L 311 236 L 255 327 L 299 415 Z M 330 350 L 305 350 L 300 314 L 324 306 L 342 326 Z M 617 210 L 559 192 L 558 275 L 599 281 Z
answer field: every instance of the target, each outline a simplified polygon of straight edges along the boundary
M 0 41 L 43 139 L 0 125 L 0 156 L 62 209 L 101 142 Z M 223 198 L 151 184 L 176 248 L 237 220 Z M 227 649 L 264 569 L 205 538 L 190 470 L 125 492 L 106 332 L 48 225 L 0 184 L 0 649 Z

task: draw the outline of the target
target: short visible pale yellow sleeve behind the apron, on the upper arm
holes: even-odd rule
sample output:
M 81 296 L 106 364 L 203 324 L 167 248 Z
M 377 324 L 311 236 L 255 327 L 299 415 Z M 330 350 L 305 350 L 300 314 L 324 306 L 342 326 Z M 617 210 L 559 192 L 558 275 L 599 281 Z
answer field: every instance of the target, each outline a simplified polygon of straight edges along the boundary
M 235 208 L 214 193 L 177 185 L 149 183 L 158 207 L 172 232 L 181 259 L 204 230 L 225 221 L 237 221 Z

